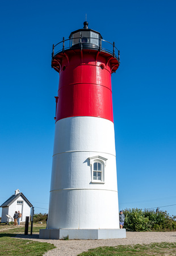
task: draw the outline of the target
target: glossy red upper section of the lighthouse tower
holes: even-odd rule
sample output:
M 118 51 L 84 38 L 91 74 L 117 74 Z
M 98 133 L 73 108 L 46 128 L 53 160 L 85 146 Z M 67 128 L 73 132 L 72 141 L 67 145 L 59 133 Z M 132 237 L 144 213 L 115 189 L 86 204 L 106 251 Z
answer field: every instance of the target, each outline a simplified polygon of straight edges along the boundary
M 70 55 L 61 60 L 56 121 L 75 116 L 113 122 L 111 67 L 102 56 Z

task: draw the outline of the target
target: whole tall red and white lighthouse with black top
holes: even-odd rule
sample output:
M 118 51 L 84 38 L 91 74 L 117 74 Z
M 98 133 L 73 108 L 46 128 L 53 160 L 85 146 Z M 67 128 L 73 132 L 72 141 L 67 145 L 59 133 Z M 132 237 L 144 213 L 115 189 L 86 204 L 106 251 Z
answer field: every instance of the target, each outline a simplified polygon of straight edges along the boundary
M 47 229 L 40 238 L 124 238 L 119 228 L 111 74 L 120 64 L 88 22 L 53 45 L 59 73 Z

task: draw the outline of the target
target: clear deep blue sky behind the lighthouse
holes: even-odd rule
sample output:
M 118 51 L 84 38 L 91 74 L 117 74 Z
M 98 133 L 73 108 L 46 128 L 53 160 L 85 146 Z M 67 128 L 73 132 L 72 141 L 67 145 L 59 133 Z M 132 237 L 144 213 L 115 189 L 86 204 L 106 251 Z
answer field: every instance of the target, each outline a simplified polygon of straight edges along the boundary
M 175 9 L 175 0 L 1 1 L 0 204 L 19 188 L 35 213 L 48 212 L 52 44 L 82 28 L 87 14 L 89 28 L 120 49 L 112 74 L 119 208 L 176 215 Z

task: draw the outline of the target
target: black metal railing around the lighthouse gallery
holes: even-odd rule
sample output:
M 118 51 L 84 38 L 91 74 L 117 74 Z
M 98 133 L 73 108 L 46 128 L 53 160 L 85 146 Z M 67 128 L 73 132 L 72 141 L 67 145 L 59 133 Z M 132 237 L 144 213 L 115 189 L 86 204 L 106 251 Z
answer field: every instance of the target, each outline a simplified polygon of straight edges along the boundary
M 74 43 L 77 40 L 77 43 Z M 120 51 L 115 47 L 115 43 L 110 43 L 102 38 L 86 38 L 87 42 L 84 41 L 85 38 L 80 35 L 79 38 L 71 38 L 63 40 L 56 45 L 53 44 L 52 59 L 60 52 L 64 52 L 68 49 L 76 48 L 86 48 L 86 49 L 98 49 L 98 51 L 104 51 L 110 53 L 114 58 L 118 59 L 120 64 Z M 93 43 L 90 43 L 93 40 Z M 95 43 L 97 41 L 97 43 Z

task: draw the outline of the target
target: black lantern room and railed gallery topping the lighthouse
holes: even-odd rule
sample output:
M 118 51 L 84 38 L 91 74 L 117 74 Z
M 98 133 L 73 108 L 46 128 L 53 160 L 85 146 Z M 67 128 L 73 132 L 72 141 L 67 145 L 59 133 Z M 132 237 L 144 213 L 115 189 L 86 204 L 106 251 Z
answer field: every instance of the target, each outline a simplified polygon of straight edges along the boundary
M 102 38 L 102 35 L 91 30 L 89 23 L 85 21 L 83 28 L 71 32 L 68 39 L 63 40 L 57 44 L 53 44 L 52 51 L 52 68 L 57 72 L 62 70 L 61 66 L 63 60 L 68 61 L 72 56 L 81 54 L 81 59 L 86 54 L 92 55 L 95 59 L 98 56 L 106 58 L 106 65 L 110 64 L 111 73 L 115 72 L 120 65 L 120 51 L 115 47 L 115 43 L 110 43 Z

